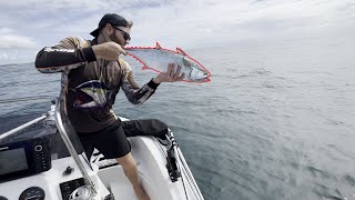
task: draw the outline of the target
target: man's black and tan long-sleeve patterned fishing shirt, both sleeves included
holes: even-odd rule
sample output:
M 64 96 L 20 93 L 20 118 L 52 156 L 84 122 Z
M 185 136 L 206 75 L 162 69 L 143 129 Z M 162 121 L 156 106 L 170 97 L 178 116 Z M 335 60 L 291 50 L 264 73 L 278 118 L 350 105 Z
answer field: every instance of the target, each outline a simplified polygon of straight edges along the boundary
M 159 86 L 151 80 L 140 88 L 123 60 L 97 60 L 91 48 L 94 44 L 95 40 L 71 37 L 43 48 L 36 59 L 40 72 L 62 72 L 60 98 L 78 132 L 94 132 L 113 124 L 111 109 L 120 88 L 130 102 L 141 104 Z

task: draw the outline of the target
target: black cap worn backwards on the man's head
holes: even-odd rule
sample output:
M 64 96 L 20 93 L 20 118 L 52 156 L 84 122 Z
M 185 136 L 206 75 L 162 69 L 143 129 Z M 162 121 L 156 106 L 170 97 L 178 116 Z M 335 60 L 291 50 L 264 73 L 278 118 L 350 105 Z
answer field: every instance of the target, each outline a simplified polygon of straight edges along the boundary
M 129 22 L 123 17 L 115 14 L 115 13 L 106 13 L 100 20 L 98 29 L 90 32 L 90 34 L 97 38 L 99 36 L 100 30 L 104 26 L 106 26 L 106 23 L 110 23 L 110 24 L 116 26 L 116 27 L 128 27 L 128 24 L 129 24 Z

